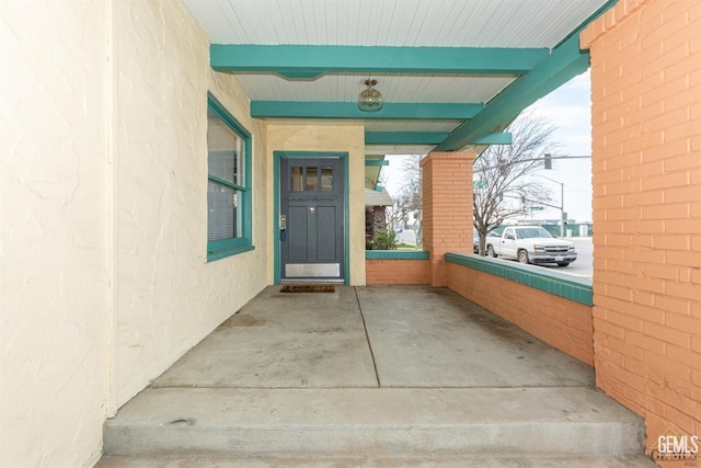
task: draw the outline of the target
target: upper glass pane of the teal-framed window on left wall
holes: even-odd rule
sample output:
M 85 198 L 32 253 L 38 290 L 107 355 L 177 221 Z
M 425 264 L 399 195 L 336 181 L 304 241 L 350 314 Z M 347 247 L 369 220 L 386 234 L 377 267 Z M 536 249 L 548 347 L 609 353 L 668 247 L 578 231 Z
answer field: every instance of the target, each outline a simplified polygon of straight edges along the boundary
M 232 184 L 243 185 L 242 140 L 212 114 L 208 116 L 207 148 L 209 174 Z

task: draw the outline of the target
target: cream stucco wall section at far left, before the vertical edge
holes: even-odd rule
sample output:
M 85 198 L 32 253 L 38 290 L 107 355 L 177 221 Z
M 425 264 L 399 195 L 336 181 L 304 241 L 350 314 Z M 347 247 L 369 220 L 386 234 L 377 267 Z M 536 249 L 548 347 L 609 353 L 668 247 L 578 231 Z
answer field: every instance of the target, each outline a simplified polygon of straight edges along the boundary
M 0 465 L 92 466 L 106 414 L 107 4 L 0 3 Z

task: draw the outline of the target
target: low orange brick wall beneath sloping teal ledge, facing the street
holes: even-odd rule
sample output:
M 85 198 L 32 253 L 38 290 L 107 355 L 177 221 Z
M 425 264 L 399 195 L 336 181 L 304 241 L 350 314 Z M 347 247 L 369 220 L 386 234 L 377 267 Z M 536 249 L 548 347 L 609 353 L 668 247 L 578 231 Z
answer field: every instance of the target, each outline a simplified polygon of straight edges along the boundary
M 593 365 L 591 307 L 448 263 L 448 287 L 545 343 Z

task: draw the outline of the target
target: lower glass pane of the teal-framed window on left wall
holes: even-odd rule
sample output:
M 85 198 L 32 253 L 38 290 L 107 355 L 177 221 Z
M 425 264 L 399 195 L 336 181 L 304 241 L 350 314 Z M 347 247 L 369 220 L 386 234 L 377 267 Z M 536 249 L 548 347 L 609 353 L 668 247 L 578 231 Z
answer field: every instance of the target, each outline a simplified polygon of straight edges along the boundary
M 207 240 L 238 238 L 240 226 L 241 193 L 209 181 L 207 184 Z

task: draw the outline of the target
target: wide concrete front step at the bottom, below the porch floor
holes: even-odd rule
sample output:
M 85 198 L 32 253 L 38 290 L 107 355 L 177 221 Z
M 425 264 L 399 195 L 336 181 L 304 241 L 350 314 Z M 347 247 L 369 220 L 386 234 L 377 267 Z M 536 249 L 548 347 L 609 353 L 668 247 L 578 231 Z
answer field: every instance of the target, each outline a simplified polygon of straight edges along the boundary
M 106 456 L 372 460 L 642 453 L 642 420 L 590 387 L 149 388 L 104 432 Z

